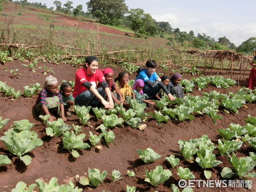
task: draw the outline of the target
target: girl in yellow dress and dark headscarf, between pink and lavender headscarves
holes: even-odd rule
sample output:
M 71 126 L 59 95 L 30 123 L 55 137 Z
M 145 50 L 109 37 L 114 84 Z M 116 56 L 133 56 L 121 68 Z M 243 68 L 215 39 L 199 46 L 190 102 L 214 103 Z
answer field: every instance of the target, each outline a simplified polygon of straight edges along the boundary
M 128 84 L 128 80 L 129 80 L 129 75 L 125 71 L 120 72 L 118 74 L 118 77 L 114 80 L 114 82 L 116 83 L 116 87 L 119 88 L 122 94 L 122 99 L 124 100 L 123 105 L 126 108 L 129 108 L 130 105 L 127 102 L 125 102 L 125 97 L 129 96 L 132 99 L 135 99 L 134 92 L 131 86 Z

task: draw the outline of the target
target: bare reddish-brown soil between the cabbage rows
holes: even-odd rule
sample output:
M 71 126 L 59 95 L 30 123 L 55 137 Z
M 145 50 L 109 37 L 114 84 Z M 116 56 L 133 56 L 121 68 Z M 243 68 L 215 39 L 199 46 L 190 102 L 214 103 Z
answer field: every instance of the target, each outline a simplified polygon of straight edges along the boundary
M 0 80 L 6 82 L 10 87 L 14 87 L 15 90 L 21 90 L 23 92 L 23 87 L 29 84 L 44 83 L 44 78 L 49 76 L 47 74 L 44 76 L 44 70 L 37 69 L 35 73 L 29 71 L 29 69 L 22 64 L 28 64 L 25 61 L 8 61 L 4 65 L 0 65 Z M 47 66 L 52 68 L 55 76 L 59 82 L 62 80 L 74 81 L 75 72 L 79 67 L 68 66 L 67 64 L 51 64 L 51 63 L 42 63 L 38 62 L 37 67 Z M 17 78 L 11 78 L 11 69 L 17 69 L 22 76 L 17 76 Z M 100 69 L 103 66 L 99 67 Z M 8 69 L 8 71 L 6 71 Z M 116 75 L 121 71 L 121 67 L 114 68 L 114 74 Z M 158 72 L 163 72 L 161 67 L 157 68 Z M 218 70 L 213 71 L 213 75 L 217 74 Z M 169 69 L 167 74 L 172 75 L 171 69 Z M 223 70 L 223 74 L 218 73 L 218 75 L 223 77 L 228 77 L 226 71 Z M 235 71 L 235 74 L 238 73 Z M 248 77 L 249 71 L 247 71 L 245 78 Z M 183 76 L 184 79 L 190 79 L 191 77 L 196 76 Z M 236 75 L 234 75 L 236 76 Z M 135 79 L 135 74 L 130 76 L 130 79 Z M 244 82 L 244 81 L 243 81 Z M 240 82 L 240 87 L 243 86 L 243 82 Z M 227 94 L 228 91 L 236 92 L 239 90 L 238 84 L 231 86 L 229 89 L 217 88 L 212 85 L 208 85 L 207 88 L 199 91 L 196 86 L 193 89 L 191 95 L 202 95 L 203 92 L 209 92 L 211 90 L 219 91 L 220 93 Z M 162 123 L 162 126 L 157 125 L 156 120 L 148 116 L 148 120 L 145 122 L 147 127 L 144 130 L 133 129 L 130 126 L 124 124 L 124 127 L 121 128 L 116 126 L 111 128 L 111 131 L 115 134 L 115 141 L 113 143 L 106 143 L 102 138 L 99 145 L 102 146 L 102 149 L 95 147 L 90 147 L 85 150 L 79 150 L 80 156 L 73 160 L 70 152 L 67 149 L 63 149 L 62 138 L 49 137 L 46 134 L 45 128 L 47 125 L 38 118 L 36 113 L 32 110 L 33 105 L 37 95 L 33 95 L 29 98 L 20 96 L 18 99 L 13 99 L 12 96 L 4 96 L 1 93 L 0 98 L 0 116 L 3 116 L 3 119 L 10 118 L 7 125 L 5 125 L 0 130 L 0 135 L 3 136 L 3 133 L 7 131 L 14 121 L 21 119 L 28 119 L 29 122 L 35 123 L 32 127 L 32 131 L 35 131 L 38 134 L 38 138 L 41 138 L 44 143 L 38 148 L 33 149 L 28 154 L 32 157 L 32 163 L 28 166 L 15 155 L 12 155 L 5 147 L 3 142 L 0 142 L 0 154 L 6 154 L 12 160 L 11 164 L 0 166 L 0 191 L 9 191 L 15 187 L 16 183 L 23 181 L 27 185 L 35 183 L 36 179 L 43 179 L 45 182 L 49 182 L 52 177 L 58 178 L 58 184 L 68 183 L 68 180 L 72 180 L 75 183 L 75 186 L 84 189 L 84 191 L 125 191 L 126 185 L 136 186 L 139 191 L 159 191 L 166 192 L 172 191 L 171 184 L 174 183 L 178 185 L 180 180 L 177 175 L 176 167 L 172 169 L 169 163 L 165 160 L 165 157 L 170 155 L 175 155 L 176 158 L 180 159 L 179 166 L 183 168 L 187 167 L 195 175 L 197 180 L 206 180 L 204 176 L 204 169 L 198 165 L 198 163 L 189 163 L 180 156 L 180 147 L 177 144 L 179 140 L 196 139 L 202 135 L 207 135 L 209 139 L 215 145 L 218 145 L 218 139 L 221 139 L 221 135 L 218 134 L 217 129 L 228 128 L 230 123 L 245 125 L 246 122 L 244 119 L 247 118 L 247 115 L 255 116 L 256 114 L 256 105 L 254 103 L 247 103 L 246 107 L 238 109 L 238 113 L 224 113 L 223 110 L 220 110 L 218 114 L 223 116 L 223 119 L 217 119 L 217 124 L 214 125 L 212 119 L 206 115 L 194 114 L 195 119 L 193 121 L 184 120 L 178 122 L 177 120 L 168 120 L 167 123 Z M 145 112 L 154 112 L 157 108 L 146 108 Z M 89 141 L 89 131 L 93 134 L 100 134 L 100 131 L 96 131 L 96 127 L 102 124 L 102 119 L 97 119 L 93 112 L 90 112 L 90 122 L 91 126 L 82 125 L 79 121 L 79 118 L 73 114 L 71 117 L 67 117 L 67 125 L 80 125 L 83 129 L 81 133 L 86 134 L 84 142 L 90 144 Z M 120 116 L 120 115 L 119 115 Z M 137 154 L 137 149 L 141 150 L 146 148 L 152 148 L 155 152 L 160 154 L 162 157 L 155 160 L 152 163 L 145 163 L 139 158 Z M 210 180 L 224 180 L 221 177 L 221 170 L 224 167 L 230 167 L 231 165 L 227 160 L 226 156 L 221 156 L 217 154 L 218 149 L 216 148 L 213 153 L 216 154 L 216 160 L 220 160 L 222 163 L 213 168 L 209 168 L 212 173 Z M 250 147 L 247 143 L 244 143 L 241 148 L 236 152 L 238 157 L 249 156 L 249 152 L 253 152 L 254 149 Z M 170 169 L 172 171 L 172 176 L 164 183 L 160 183 L 156 187 L 152 186 L 150 183 L 144 181 L 145 179 L 145 170 L 153 170 L 156 166 L 163 166 L 164 169 Z M 79 179 L 76 180 L 76 175 L 86 176 L 88 174 L 88 168 L 93 169 L 97 168 L 101 172 L 103 170 L 111 174 L 112 170 L 116 169 L 121 172 L 121 177 L 123 179 L 113 182 L 110 175 L 105 177 L 104 182 L 99 186 L 82 186 L 79 183 Z M 134 171 L 134 177 L 128 177 L 126 172 L 127 170 Z M 253 169 L 255 171 L 255 169 Z M 239 177 L 233 176 L 230 180 L 237 180 Z M 253 179 L 253 188 L 193 188 L 194 191 L 255 191 L 255 179 Z M 37 188 L 35 188 L 37 190 Z

